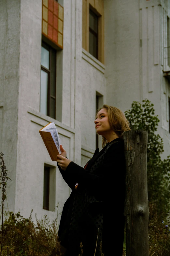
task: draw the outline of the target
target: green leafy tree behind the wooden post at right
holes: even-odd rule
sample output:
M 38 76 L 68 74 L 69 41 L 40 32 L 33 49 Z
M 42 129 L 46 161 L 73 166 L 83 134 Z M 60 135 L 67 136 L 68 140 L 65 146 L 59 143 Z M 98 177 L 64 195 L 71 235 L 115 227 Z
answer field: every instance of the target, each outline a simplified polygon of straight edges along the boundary
M 158 115 L 154 115 L 154 104 L 148 99 L 142 102 L 144 104 L 141 106 L 139 102 L 134 101 L 131 110 L 125 111 L 125 116 L 132 130 L 148 130 L 148 199 L 157 206 L 158 211 L 167 213 L 170 210 L 170 155 L 161 160 L 160 154 L 164 152 L 163 139 L 159 134 L 155 134 L 160 120 Z

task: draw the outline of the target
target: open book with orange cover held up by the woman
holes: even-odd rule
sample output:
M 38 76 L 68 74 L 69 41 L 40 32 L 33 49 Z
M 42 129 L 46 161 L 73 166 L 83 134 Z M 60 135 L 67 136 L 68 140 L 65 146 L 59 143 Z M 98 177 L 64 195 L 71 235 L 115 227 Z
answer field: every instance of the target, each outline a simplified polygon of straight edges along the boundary
M 49 123 L 39 130 L 52 161 L 57 161 L 57 155 L 61 154 L 61 141 L 54 123 Z

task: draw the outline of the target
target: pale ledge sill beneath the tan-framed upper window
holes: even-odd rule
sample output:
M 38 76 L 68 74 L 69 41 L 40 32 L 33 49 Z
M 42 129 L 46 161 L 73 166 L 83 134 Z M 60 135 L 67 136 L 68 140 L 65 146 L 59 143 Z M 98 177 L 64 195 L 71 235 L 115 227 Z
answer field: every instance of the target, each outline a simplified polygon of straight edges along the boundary
M 89 52 L 84 50 L 82 48 L 82 59 L 86 60 L 88 63 L 90 63 L 93 67 L 95 67 L 97 70 L 99 70 L 102 74 L 105 74 L 105 65 L 97 60 L 95 57 L 93 57 Z

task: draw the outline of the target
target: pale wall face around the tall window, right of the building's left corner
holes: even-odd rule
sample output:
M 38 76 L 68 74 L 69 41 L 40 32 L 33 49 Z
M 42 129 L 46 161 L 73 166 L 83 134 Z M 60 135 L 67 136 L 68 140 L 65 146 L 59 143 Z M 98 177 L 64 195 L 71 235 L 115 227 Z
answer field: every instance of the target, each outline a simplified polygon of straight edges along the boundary
M 71 9 L 72 15 L 71 16 Z M 18 154 L 16 194 L 17 202 L 15 211 L 21 211 L 28 216 L 31 209 L 37 213 L 37 217 L 49 214 L 51 219 L 56 217 L 56 212 L 43 210 L 43 175 L 44 164 L 53 166 L 56 176 L 55 205 L 59 201 L 63 207 L 70 194 L 70 189 L 65 184 L 59 173 L 56 162 L 51 161 L 46 147 L 39 135 L 39 129 L 48 122 L 54 122 L 57 126 L 61 141 L 71 160 L 81 164 L 81 86 L 80 86 L 80 62 L 81 62 L 81 3 L 72 6 L 65 2 L 64 13 L 64 50 L 59 52 L 63 67 L 60 81 L 63 81 L 62 92 L 62 122 L 52 119 L 39 112 L 40 105 L 40 59 L 41 59 L 41 0 L 21 0 L 21 38 L 20 38 L 20 90 L 19 90 L 19 123 L 18 123 Z M 32 15 L 30 15 L 30 13 Z M 79 26 L 72 28 L 75 19 Z M 70 20 L 72 20 L 70 22 Z M 36 29 L 34 29 L 34 27 Z M 71 32 L 69 32 L 71 31 Z M 72 51 L 72 44 L 74 52 Z M 70 47 L 69 47 L 70 46 Z M 62 77 L 61 77 L 62 75 Z M 71 81 L 71 83 L 70 83 Z M 58 83 L 59 81 L 57 81 Z M 70 107 L 72 106 L 72 107 Z M 24 143 L 23 143 L 24 142 Z M 75 150 L 74 150 L 75 145 Z M 29 202 L 26 203 L 26 202 Z

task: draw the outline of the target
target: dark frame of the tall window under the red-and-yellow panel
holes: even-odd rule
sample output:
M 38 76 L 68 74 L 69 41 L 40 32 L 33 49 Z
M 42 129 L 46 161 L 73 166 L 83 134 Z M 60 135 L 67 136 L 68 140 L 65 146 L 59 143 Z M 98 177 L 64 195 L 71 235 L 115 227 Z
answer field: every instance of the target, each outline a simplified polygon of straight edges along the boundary
M 44 41 L 42 41 L 41 46 L 43 48 L 45 48 L 46 50 L 49 51 L 49 69 L 44 67 L 43 65 L 41 65 L 41 70 L 43 70 L 44 72 L 48 73 L 48 85 L 47 85 L 47 115 L 51 117 L 51 113 L 50 113 L 50 103 L 51 103 L 51 98 L 55 99 L 55 111 L 54 111 L 54 119 L 56 119 L 56 75 L 57 75 L 57 51 L 56 49 L 54 49 L 53 47 L 51 47 L 49 44 L 45 43 Z M 55 88 L 55 96 L 50 94 L 50 82 L 51 82 L 51 57 L 52 57 L 52 51 L 55 52 L 55 66 L 54 66 L 54 71 L 55 71 L 55 78 L 54 78 L 54 88 Z

